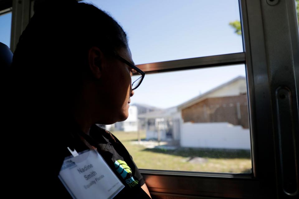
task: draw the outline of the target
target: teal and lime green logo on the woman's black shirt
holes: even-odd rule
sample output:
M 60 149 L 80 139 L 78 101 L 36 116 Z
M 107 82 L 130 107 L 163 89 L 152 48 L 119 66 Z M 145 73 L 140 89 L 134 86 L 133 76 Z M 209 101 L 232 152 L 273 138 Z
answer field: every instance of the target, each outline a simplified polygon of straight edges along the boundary
M 129 187 L 134 187 L 139 183 L 138 180 L 135 180 L 133 178 L 132 170 L 125 161 L 116 160 L 114 162 L 114 166 L 116 168 L 116 171 L 121 175 L 121 177 L 126 180 L 126 183 L 129 185 Z

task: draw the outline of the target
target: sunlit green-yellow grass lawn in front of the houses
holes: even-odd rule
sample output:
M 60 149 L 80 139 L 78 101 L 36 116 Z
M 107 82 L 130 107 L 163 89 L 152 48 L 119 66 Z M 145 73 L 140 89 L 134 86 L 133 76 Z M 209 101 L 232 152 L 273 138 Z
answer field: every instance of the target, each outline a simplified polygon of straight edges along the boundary
M 250 173 L 251 159 L 248 150 L 220 150 L 183 148 L 176 150 L 148 149 L 143 145 L 133 144 L 137 141 L 137 132 L 112 132 L 126 147 L 140 169 Z M 145 139 L 145 132 L 140 133 Z M 206 159 L 204 163 L 191 163 L 193 157 Z

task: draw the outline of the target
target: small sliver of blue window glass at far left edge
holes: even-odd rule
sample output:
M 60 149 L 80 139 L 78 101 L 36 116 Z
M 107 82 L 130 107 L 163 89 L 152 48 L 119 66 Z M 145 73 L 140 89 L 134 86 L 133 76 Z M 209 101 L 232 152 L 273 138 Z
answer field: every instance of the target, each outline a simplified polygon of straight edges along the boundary
M 10 47 L 10 32 L 12 28 L 12 12 L 0 16 L 0 42 Z

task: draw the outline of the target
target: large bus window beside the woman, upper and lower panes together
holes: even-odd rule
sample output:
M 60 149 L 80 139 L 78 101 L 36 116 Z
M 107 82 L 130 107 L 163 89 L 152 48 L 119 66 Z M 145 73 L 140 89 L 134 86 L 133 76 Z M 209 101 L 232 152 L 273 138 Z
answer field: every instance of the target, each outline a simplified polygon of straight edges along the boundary
M 92 3 L 125 27 L 141 68 L 243 52 L 235 0 Z M 251 173 L 245 65 L 147 74 L 129 118 L 105 128 L 141 169 Z

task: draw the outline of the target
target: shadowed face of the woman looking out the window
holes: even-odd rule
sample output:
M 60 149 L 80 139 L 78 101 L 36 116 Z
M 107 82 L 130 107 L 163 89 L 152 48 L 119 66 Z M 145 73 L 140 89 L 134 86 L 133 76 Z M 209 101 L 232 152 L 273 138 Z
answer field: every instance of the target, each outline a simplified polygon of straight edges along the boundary
M 118 55 L 134 64 L 130 49 L 121 49 Z M 129 116 L 130 97 L 134 95 L 131 86 L 132 68 L 116 58 L 107 59 L 103 71 L 102 97 L 104 98 L 104 109 L 107 119 L 106 123 L 124 121 Z

